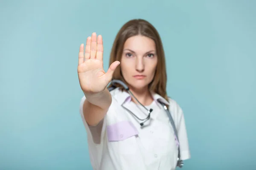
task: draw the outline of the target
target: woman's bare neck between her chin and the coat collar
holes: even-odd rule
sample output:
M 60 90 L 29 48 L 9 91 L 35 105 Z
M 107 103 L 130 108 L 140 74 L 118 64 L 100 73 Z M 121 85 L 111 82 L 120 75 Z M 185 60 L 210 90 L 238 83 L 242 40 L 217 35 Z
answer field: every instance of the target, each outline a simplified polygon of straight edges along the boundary
M 148 88 L 142 88 L 142 89 L 135 89 L 132 87 L 129 87 L 131 93 L 137 98 L 137 100 L 143 104 L 143 105 L 150 105 L 151 102 L 153 102 L 153 98 L 151 96 L 151 93 L 149 91 Z M 133 96 L 131 96 L 131 100 L 136 103 L 139 104 L 136 99 L 134 99 Z

